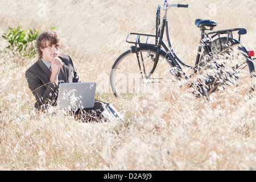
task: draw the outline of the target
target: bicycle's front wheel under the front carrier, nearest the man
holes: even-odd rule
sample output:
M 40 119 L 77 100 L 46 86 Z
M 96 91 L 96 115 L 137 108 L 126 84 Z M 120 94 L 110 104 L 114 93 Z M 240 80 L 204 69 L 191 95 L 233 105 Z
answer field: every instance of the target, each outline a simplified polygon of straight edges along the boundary
M 174 66 L 166 58 L 166 52 L 162 50 L 160 51 L 159 61 L 155 71 L 149 79 L 146 78 L 153 67 L 155 54 L 156 48 L 139 48 L 138 55 L 140 59 L 142 55 L 145 67 L 144 71 L 141 65 L 142 74 L 139 69 L 136 53 L 128 50 L 115 60 L 110 73 L 110 85 L 116 97 L 126 100 L 134 95 L 142 96 L 147 93 L 152 94 L 152 92 L 159 89 L 161 82 L 170 79 L 170 68 Z

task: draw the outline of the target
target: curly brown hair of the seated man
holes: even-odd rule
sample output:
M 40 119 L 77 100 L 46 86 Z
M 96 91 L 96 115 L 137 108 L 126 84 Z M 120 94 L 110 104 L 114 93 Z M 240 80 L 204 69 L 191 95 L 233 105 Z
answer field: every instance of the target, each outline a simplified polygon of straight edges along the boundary
M 57 33 L 53 30 L 44 31 L 36 40 L 36 48 L 38 49 L 39 59 L 41 59 L 43 55 L 41 49 L 46 48 L 48 41 L 50 44 L 58 44 L 58 46 L 61 48 L 60 38 Z

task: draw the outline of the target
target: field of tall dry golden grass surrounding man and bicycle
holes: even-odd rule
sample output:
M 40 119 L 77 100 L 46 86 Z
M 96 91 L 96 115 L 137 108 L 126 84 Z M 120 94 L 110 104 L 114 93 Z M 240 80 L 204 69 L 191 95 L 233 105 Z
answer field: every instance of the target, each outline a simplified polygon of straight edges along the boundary
M 1 1 L 0 34 L 18 25 L 56 27 L 82 81 L 97 81 L 97 99 L 112 103 L 124 121 L 80 123 L 63 111 L 38 113 L 24 73 L 38 60 L 1 53 L 0 170 L 255 170 L 255 79 L 213 93 L 209 102 L 166 84 L 160 94 L 123 102 L 110 92 L 110 69 L 130 45 L 129 32 L 154 34 L 163 0 Z M 172 44 L 193 65 L 200 30 L 195 19 L 215 19 L 214 30 L 245 27 L 241 42 L 256 51 L 254 0 L 170 1 Z M 163 13 L 163 11 L 162 11 Z M 171 24 L 172 23 L 172 24 Z M 1 50 L 6 42 L 0 38 Z M 182 82 L 182 81 L 181 81 Z

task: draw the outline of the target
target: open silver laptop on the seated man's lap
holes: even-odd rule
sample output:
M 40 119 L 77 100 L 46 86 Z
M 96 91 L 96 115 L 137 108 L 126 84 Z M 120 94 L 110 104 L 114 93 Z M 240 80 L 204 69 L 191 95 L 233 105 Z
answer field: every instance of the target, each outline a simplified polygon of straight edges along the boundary
M 59 109 L 91 109 L 94 107 L 97 82 L 61 83 L 57 98 Z

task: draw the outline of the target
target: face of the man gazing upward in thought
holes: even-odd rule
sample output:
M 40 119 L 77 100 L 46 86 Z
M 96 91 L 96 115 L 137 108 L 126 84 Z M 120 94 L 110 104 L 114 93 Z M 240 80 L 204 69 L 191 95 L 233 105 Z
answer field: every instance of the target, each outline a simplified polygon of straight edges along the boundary
M 47 41 L 46 47 L 41 48 L 41 51 L 43 52 L 43 59 L 51 62 L 54 57 L 59 56 L 59 45 L 58 44 L 51 44 L 51 42 Z

